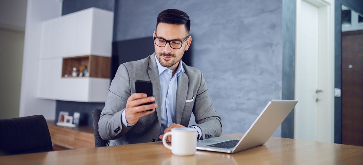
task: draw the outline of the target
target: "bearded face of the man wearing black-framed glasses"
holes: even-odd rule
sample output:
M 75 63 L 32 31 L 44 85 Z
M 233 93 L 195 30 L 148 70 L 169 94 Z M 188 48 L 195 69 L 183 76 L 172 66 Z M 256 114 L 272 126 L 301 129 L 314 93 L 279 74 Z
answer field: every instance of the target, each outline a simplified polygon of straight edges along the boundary
M 184 24 L 159 23 L 153 36 L 165 40 L 183 41 L 188 36 L 188 32 Z M 184 51 L 189 49 L 191 40 L 192 38 L 189 36 L 183 45 L 181 45 L 180 49 L 171 48 L 170 43 L 167 43 L 165 47 L 159 47 L 158 45 L 155 45 L 154 42 L 155 54 L 160 64 L 171 70 L 176 69 L 181 57 L 184 55 Z

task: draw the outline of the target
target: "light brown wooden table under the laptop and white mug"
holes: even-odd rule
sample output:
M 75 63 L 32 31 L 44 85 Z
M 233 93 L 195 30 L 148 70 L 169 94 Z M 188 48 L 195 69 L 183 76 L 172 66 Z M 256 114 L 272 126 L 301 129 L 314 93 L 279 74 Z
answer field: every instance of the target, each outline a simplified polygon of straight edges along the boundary
M 242 134 L 223 137 L 241 138 Z M 271 137 L 265 145 L 235 154 L 197 150 L 175 156 L 162 142 L 53 151 L 0 157 L 1 165 L 362 165 L 363 147 Z

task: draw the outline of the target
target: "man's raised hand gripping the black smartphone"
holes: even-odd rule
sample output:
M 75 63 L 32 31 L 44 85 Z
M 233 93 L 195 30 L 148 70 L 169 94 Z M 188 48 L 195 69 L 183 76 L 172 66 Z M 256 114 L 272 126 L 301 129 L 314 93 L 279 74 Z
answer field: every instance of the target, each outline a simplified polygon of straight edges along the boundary
M 127 99 L 126 109 L 125 109 L 125 118 L 127 123 L 135 124 L 140 117 L 148 115 L 150 113 L 155 112 L 155 108 L 158 104 L 148 104 L 141 105 L 147 102 L 152 102 L 155 100 L 155 97 L 147 97 L 145 93 L 134 93 Z M 146 111 L 152 109 L 151 111 Z

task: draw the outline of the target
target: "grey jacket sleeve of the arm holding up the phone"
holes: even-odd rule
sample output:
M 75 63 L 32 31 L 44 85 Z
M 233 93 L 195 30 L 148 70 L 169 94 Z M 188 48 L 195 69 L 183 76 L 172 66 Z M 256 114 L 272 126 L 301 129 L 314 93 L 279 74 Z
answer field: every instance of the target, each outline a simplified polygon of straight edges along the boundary
M 131 95 L 130 79 L 127 68 L 121 64 L 112 80 L 105 108 L 98 121 L 99 135 L 103 140 L 114 140 L 125 135 L 132 126 L 123 126 L 121 114 L 126 108 L 127 98 Z

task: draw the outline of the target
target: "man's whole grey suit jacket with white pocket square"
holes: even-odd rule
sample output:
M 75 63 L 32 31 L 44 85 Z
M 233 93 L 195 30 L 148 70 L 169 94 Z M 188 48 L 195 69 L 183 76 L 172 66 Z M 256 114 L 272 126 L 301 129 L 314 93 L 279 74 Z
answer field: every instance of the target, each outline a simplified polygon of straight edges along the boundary
M 121 64 L 112 80 L 109 93 L 98 122 L 99 134 L 103 140 L 111 140 L 111 145 L 151 142 L 159 139 L 161 102 L 159 71 L 154 57 Z M 182 63 L 183 73 L 178 76 L 176 92 L 175 122 L 188 126 L 191 113 L 195 115 L 197 126 L 202 130 L 203 138 L 220 136 L 222 124 L 209 98 L 208 88 L 200 70 Z M 135 81 L 151 81 L 158 104 L 154 113 L 139 118 L 135 125 L 125 127 L 121 123 L 121 114 L 126 108 L 127 98 L 135 93 Z M 185 102 L 186 100 L 191 100 Z

